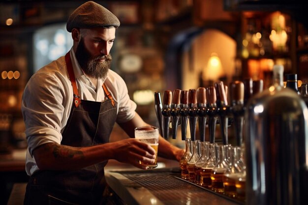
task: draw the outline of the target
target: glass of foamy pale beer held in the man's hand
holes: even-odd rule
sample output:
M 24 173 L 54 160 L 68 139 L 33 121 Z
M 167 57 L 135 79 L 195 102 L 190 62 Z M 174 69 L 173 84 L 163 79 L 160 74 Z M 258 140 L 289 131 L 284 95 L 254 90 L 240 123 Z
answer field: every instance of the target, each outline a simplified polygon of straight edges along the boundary
M 139 161 L 139 163 L 145 165 L 148 169 L 153 169 L 157 167 L 157 151 L 158 151 L 158 138 L 159 138 L 158 127 L 154 126 L 137 127 L 135 128 L 135 138 L 152 146 L 155 149 L 155 155 L 156 155 L 154 164 L 143 164 L 141 161 Z

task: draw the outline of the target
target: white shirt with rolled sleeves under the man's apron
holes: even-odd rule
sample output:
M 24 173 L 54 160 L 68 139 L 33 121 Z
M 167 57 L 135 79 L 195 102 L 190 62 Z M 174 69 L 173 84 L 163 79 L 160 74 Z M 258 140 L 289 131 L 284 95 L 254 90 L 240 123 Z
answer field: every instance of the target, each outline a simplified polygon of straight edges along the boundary
M 130 100 L 123 79 L 109 70 L 106 79 L 97 79 L 94 88 L 84 75 L 70 50 L 73 70 L 80 99 L 101 102 L 106 99 L 102 88 L 105 83 L 117 107 L 117 122 L 125 122 L 135 116 L 136 104 Z M 38 170 L 33 158 L 33 150 L 46 143 L 62 141 L 62 131 L 73 105 L 73 88 L 68 77 L 64 57 L 61 57 L 38 70 L 27 83 L 22 101 L 22 114 L 26 124 L 28 150 L 26 172 L 32 175 Z

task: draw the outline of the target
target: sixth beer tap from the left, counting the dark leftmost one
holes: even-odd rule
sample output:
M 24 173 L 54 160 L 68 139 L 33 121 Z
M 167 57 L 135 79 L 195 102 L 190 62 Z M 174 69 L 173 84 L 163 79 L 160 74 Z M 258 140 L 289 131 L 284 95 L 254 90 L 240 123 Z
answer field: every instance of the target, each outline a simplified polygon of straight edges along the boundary
M 205 141 L 205 127 L 206 127 L 206 89 L 197 88 L 196 90 L 197 98 L 197 115 L 199 116 L 199 133 L 200 141 Z

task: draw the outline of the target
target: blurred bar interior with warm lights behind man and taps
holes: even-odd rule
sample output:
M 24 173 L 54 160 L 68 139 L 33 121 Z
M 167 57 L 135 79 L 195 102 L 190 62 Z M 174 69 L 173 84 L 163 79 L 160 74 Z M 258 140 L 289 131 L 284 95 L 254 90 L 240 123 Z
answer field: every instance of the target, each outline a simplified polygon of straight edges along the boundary
M 84 0 L 0 1 L 0 191 L 26 181 L 23 89 L 40 67 L 72 46 L 66 20 Z M 121 21 L 112 70 L 137 112 L 158 125 L 154 92 L 229 85 L 247 77 L 272 82 L 274 64 L 308 83 L 307 3 L 300 0 L 96 0 Z M 299 85 L 300 86 L 300 85 Z M 123 135 L 115 127 L 115 135 Z M 182 142 L 172 141 L 178 146 Z M 0 204 L 5 204 L 6 198 Z

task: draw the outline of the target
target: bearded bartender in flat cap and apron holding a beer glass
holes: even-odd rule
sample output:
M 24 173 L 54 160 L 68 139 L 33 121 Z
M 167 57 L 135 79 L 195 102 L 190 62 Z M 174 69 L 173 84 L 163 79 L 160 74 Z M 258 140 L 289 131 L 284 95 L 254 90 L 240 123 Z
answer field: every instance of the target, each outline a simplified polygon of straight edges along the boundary
M 135 112 L 123 79 L 110 70 L 119 26 L 103 6 L 82 4 L 66 25 L 74 42 L 71 50 L 27 83 L 22 101 L 30 176 L 25 205 L 98 205 L 105 202 L 109 159 L 140 169 L 154 163 L 154 149 L 131 139 L 134 128 L 148 124 Z M 109 143 L 115 122 L 130 139 Z M 158 153 L 180 160 L 184 150 L 160 137 Z

